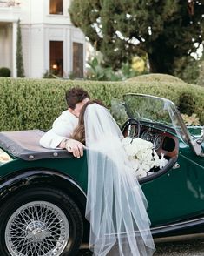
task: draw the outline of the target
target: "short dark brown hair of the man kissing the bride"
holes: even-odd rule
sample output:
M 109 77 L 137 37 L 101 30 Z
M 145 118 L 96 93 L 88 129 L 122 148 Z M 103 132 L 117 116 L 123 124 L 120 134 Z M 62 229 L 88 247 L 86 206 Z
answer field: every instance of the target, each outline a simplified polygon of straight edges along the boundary
M 89 93 L 80 87 L 74 87 L 66 91 L 67 104 L 73 110 L 76 108 L 76 104 L 82 102 L 84 98 L 89 98 Z

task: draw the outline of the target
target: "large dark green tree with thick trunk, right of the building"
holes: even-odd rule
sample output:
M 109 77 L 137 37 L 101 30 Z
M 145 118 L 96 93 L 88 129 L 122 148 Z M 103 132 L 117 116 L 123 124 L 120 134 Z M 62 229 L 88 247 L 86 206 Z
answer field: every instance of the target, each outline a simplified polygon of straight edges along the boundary
M 115 70 L 122 62 L 148 54 L 150 70 L 173 74 L 178 59 L 203 40 L 202 0 L 73 0 L 73 24 L 102 51 Z

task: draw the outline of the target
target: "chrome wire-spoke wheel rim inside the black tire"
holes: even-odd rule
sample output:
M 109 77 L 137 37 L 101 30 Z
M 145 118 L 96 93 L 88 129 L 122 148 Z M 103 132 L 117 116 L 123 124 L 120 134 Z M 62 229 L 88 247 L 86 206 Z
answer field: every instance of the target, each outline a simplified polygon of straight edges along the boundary
M 59 256 L 69 240 L 69 221 L 47 201 L 32 201 L 14 212 L 5 230 L 12 256 Z

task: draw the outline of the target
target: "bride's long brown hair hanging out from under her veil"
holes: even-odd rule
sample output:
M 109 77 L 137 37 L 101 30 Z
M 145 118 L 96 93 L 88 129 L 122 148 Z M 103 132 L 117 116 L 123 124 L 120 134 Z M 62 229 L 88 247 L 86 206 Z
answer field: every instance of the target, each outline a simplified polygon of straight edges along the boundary
M 102 104 L 102 102 L 99 100 L 89 100 L 86 104 L 84 104 L 80 112 L 78 125 L 76 126 L 76 129 L 73 131 L 73 134 L 70 137 L 82 142 L 82 144 L 84 145 L 85 145 L 84 113 L 87 107 L 89 106 L 89 104 L 94 104 L 94 103 L 104 106 L 104 104 Z

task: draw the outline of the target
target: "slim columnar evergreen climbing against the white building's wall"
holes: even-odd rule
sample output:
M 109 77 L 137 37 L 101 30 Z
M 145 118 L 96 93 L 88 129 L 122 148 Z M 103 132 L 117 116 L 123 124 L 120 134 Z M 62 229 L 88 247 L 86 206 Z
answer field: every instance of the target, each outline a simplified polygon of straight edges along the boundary
M 17 77 L 25 77 L 23 67 L 22 37 L 20 20 L 17 21 L 17 42 L 16 42 L 16 68 Z

